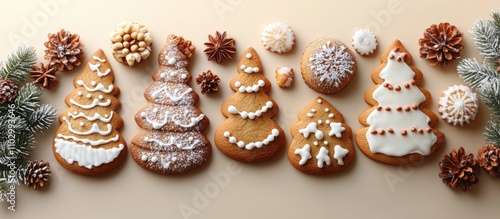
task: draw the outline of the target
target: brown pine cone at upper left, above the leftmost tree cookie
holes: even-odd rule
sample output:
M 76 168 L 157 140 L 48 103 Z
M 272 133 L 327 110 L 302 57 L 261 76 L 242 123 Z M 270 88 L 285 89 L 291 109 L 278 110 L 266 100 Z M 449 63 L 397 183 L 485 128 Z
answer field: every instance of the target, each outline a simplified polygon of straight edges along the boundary
M 80 43 L 78 34 L 71 34 L 69 31 L 61 29 L 56 34 L 49 33 L 49 41 L 45 42 L 46 60 L 50 65 L 56 67 L 57 71 L 73 70 L 82 64 L 83 44 Z

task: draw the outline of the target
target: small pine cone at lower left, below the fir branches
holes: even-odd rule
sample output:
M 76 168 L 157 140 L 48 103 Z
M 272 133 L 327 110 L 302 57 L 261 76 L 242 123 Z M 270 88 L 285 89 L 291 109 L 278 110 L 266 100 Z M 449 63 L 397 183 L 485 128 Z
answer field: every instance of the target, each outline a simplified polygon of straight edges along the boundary
M 43 162 L 43 160 L 31 162 L 26 169 L 26 186 L 33 187 L 35 190 L 44 187 L 49 183 L 51 173 L 48 162 Z

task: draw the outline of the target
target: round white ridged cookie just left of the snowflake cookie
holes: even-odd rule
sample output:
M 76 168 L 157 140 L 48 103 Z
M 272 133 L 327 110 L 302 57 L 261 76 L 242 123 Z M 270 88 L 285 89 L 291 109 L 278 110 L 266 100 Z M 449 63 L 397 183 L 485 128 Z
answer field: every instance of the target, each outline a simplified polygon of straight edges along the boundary
M 288 24 L 278 21 L 264 26 L 260 40 L 267 50 L 284 53 L 292 50 L 295 34 Z

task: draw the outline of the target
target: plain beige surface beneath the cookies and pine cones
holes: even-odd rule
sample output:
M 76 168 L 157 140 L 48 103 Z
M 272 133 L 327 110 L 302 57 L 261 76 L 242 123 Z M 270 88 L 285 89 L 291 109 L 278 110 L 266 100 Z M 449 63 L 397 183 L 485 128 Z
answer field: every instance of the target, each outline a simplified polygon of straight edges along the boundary
M 119 111 L 125 119 L 122 134 L 127 141 L 139 128 L 133 115 L 146 105 L 142 92 L 151 84 L 158 66 L 157 52 L 168 34 L 182 35 L 197 46 L 191 73 L 195 76 L 211 69 L 221 78 L 221 92 L 201 96 L 198 107 L 211 119 L 205 134 L 213 143 L 213 133 L 223 121 L 219 107 L 233 92 L 229 80 L 236 74 L 236 61 L 224 65 L 207 62 L 203 43 L 207 34 L 228 31 L 236 39 L 238 59 L 247 47 L 256 48 L 264 65 L 264 74 L 273 82 L 269 95 L 281 110 L 275 120 L 287 132 L 296 121 L 296 113 L 319 94 L 309 89 L 300 77 L 300 56 L 306 45 L 322 36 L 350 42 L 353 32 L 369 26 L 379 39 L 379 50 L 370 57 L 358 58 L 358 75 L 348 87 L 335 95 L 321 95 L 345 116 L 353 130 L 361 125 L 357 116 L 368 105 L 363 95 L 373 83 L 370 72 L 379 65 L 379 55 L 394 39 L 400 39 L 414 56 L 415 66 L 424 73 L 423 87 L 433 95 L 430 109 L 437 113 L 441 91 L 462 81 L 455 65 L 446 70 L 429 66 L 418 58 L 418 39 L 432 23 L 448 21 L 464 32 L 462 57 L 480 58 L 469 30 L 475 20 L 488 18 L 496 1 L 307 1 L 286 0 L 205 0 L 205 1 L 3 1 L 0 13 L 0 59 L 5 60 L 16 48 L 12 39 L 36 47 L 43 61 L 43 43 L 47 33 L 66 28 L 80 34 L 86 59 L 98 48 L 111 58 L 108 33 L 122 21 L 135 21 L 149 27 L 154 37 L 153 55 L 146 62 L 129 68 L 113 60 L 116 85 L 122 89 Z M 47 5 L 49 4 L 49 5 Z M 219 7 L 216 9 L 215 6 Z M 260 44 L 260 33 L 267 23 L 282 20 L 295 31 L 296 45 L 287 54 L 271 53 Z M 296 80 L 289 89 L 274 82 L 274 69 L 289 65 Z M 67 107 L 65 96 L 73 90 L 72 80 L 81 67 L 59 73 L 60 85 L 46 92 L 43 101 L 59 112 Z M 190 85 L 200 93 L 194 82 Z M 182 218 L 180 209 L 189 209 L 189 218 L 494 218 L 500 213 L 500 183 L 481 172 L 480 183 L 463 193 L 446 187 L 437 176 L 438 161 L 451 148 L 464 146 L 476 153 L 484 144 L 482 132 L 489 112 L 481 104 L 477 119 L 465 127 L 453 127 L 440 120 L 438 129 L 447 135 L 444 149 L 424 163 L 388 166 L 369 160 L 359 150 L 354 165 L 333 176 L 315 177 L 295 170 L 283 151 L 276 159 L 261 164 L 232 161 L 215 146 L 209 164 L 199 170 L 162 176 L 141 169 L 128 157 L 116 171 L 102 177 L 75 175 L 55 161 L 52 134 L 58 122 L 39 138 L 33 159 L 51 163 L 51 185 L 43 191 L 25 187 L 17 190 L 16 212 L 0 204 L 1 218 Z M 214 176 L 229 176 L 218 181 Z M 392 178 L 391 178 L 392 177 Z M 396 181 L 387 180 L 391 178 Z

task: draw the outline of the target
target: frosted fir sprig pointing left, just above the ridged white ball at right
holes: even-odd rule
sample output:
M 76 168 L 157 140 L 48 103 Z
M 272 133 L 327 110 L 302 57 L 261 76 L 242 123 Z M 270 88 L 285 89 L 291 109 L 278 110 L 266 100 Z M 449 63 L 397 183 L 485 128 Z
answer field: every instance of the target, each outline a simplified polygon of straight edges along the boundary
M 462 59 L 457 66 L 458 76 L 474 88 L 500 80 L 500 75 L 492 67 L 479 64 L 476 59 Z

